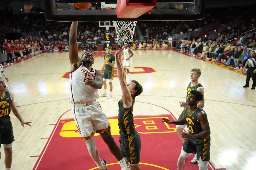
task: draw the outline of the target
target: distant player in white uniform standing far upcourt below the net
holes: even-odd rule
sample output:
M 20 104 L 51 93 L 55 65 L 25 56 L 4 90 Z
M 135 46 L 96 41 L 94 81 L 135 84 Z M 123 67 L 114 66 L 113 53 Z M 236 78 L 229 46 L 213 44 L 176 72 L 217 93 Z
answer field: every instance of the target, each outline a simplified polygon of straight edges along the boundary
M 124 58 L 122 58 L 122 60 L 124 60 L 123 63 L 123 67 L 124 67 L 124 72 L 128 74 L 129 79 L 126 79 L 126 82 L 129 83 L 132 79 L 131 79 L 131 73 L 129 68 L 132 65 L 132 50 L 130 48 L 128 48 L 128 44 L 124 43 L 125 48 L 124 48 Z

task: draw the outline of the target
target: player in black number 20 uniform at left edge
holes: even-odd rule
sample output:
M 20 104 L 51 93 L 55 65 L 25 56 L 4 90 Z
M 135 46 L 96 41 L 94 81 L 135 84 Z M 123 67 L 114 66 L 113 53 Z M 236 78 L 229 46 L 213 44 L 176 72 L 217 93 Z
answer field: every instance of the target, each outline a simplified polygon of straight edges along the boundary
M 25 122 L 20 115 L 17 107 L 14 104 L 14 95 L 7 91 L 4 79 L 0 77 L 0 144 L 4 145 L 4 164 L 5 169 L 10 170 L 12 166 L 12 142 L 14 141 L 12 122 L 10 113 L 12 113 L 19 119 L 20 124 L 31 126 L 29 123 Z M 1 159 L 1 145 L 0 145 L 0 159 Z

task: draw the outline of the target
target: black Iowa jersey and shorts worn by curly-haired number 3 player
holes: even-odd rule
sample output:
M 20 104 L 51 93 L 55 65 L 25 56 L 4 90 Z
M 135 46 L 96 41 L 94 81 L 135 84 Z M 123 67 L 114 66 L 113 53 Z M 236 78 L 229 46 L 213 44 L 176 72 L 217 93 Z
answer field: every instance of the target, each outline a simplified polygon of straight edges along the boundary
M 203 131 L 200 122 L 197 120 L 197 115 L 201 111 L 204 111 L 202 108 L 197 107 L 195 112 L 192 115 L 188 114 L 188 108 L 186 108 L 184 114 L 185 119 L 189 128 L 189 134 L 194 135 L 201 133 Z M 196 153 L 197 160 L 201 157 L 202 161 L 210 160 L 210 145 L 211 137 L 205 137 L 200 139 L 191 139 L 186 140 L 183 144 L 183 151 L 187 153 Z

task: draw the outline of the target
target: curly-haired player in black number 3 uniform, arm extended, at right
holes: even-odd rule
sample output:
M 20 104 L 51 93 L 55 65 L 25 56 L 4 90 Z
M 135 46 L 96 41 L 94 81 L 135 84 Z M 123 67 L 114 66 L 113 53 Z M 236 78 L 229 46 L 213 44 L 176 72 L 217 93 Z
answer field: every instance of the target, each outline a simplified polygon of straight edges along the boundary
M 182 170 L 186 159 L 192 153 L 197 155 L 199 170 L 207 170 L 207 164 L 210 160 L 211 130 L 206 113 L 202 108 L 198 107 L 199 101 L 203 99 L 204 95 L 201 92 L 192 90 L 188 96 L 188 107 L 184 108 L 182 119 L 170 121 L 162 118 L 162 122 L 169 124 L 187 124 L 190 130 L 189 134 L 183 132 L 181 135 L 186 141 L 182 146 L 178 159 L 178 170 Z

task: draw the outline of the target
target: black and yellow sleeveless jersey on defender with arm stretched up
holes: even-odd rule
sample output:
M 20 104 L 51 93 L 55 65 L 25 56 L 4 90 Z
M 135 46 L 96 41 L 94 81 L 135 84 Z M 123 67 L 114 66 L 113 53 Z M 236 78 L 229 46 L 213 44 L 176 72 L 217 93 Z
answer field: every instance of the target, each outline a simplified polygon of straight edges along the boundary
M 133 105 L 135 103 L 135 97 L 132 96 L 132 106 L 130 108 L 124 108 L 122 100 L 118 102 L 118 126 L 120 135 L 131 136 L 136 130 L 133 122 Z

